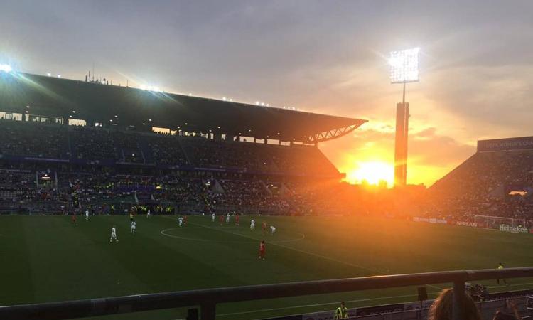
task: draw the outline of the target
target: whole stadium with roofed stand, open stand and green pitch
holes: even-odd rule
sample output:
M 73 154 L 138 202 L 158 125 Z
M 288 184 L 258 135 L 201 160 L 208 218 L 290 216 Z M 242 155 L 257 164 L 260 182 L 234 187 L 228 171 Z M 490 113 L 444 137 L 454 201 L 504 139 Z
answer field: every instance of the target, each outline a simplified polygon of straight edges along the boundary
M 524 196 L 531 185 L 531 138 L 480 141 L 478 152 L 423 198 L 419 192 L 383 191 L 369 200 L 368 191 L 342 183 L 343 174 L 316 147 L 364 120 L 25 73 L 3 75 L 0 87 L 0 210 L 6 214 L 0 233 L 11 242 L 4 274 L 14 275 L 14 282 L 6 282 L 5 305 L 90 299 L 101 289 L 119 296 L 476 269 L 504 259 L 532 263 L 529 235 L 515 234 L 527 233 L 531 225 L 531 202 Z M 502 171 L 502 163 L 513 166 Z M 474 182 L 475 187 L 468 184 Z M 392 192 L 418 201 L 379 206 L 397 196 Z M 135 234 L 130 214 L 139 223 Z M 72 220 L 75 215 L 80 218 Z M 183 227 L 178 217 L 188 218 Z M 252 219 L 257 230 L 249 228 Z M 260 230 L 262 223 L 276 226 L 276 233 Z M 102 231 L 112 226 L 121 242 L 109 246 Z M 332 229 L 350 236 L 338 238 L 327 232 Z M 431 233 L 453 239 L 446 247 L 462 251 L 458 260 L 441 265 L 431 252 L 436 244 L 422 240 Z M 401 247 L 390 245 L 392 235 Z M 492 245 L 476 244 L 480 237 Z M 268 259 L 258 261 L 255 247 L 263 239 Z M 505 242 L 526 252 L 515 248 L 510 256 Z M 472 247 L 465 247 L 468 243 Z M 471 260 L 463 260 L 468 255 Z M 369 262 L 368 256 L 374 258 Z M 419 269 L 409 263 L 419 259 Z M 33 287 L 33 295 L 21 279 L 28 279 L 23 284 Z M 483 297 L 488 312 L 505 297 L 497 292 L 529 295 L 527 280 L 509 281 L 512 287 L 476 282 L 490 290 Z M 70 287 L 72 282 L 83 285 Z M 429 285 L 429 297 L 441 288 Z M 298 312 L 319 319 L 331 314 L 323 311 L 339 299 L 357 318 L 400 312 L 411 319 L 409 309 L 419 308 L 415 290 L 222 305 L 217 319 Z M 497 299 L 489 303 L 490 295 Z M 519 299 L 524 307 L 525 298 Z M 184 312 L 149 317 L 185 317 Z

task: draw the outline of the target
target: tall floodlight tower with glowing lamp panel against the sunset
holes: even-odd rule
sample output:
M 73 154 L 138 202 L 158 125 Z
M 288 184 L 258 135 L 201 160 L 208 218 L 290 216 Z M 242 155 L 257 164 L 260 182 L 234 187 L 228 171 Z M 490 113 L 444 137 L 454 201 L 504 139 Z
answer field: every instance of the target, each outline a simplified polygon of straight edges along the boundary
M 411 48 L 390 53 L 390 81 L 402 83 L 402 103 L 396 105 L 396 138 L 394 146 L 394 186 L 407 184 L 407 137 L 409 135 L 409 102 L 405 102 L 407 82 L 419 81 L 420 48 Z

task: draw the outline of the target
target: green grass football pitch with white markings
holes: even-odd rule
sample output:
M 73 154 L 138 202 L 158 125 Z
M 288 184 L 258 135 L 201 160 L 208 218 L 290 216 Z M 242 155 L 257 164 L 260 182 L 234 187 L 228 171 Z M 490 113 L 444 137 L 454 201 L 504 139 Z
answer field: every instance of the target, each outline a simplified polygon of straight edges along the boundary
M 533 265 L 533 236 L 468 227 L 377 218 L 257 217 L 220 226 L 208 216 L 0 217 L 0 305 L 90 299 L 316 279 L 441 270 Z M 261 223 L 276 226 L 262 235 Z M 109 243 L 113 225 L 119 242 Z M 258 260 L 266 240 L 266 260 Z M 485 282 L 490 292 L 527 289 L 533 279 L 510 287 Z M 438 287 L 428 287 L 431 297 Z M 262 319 L 285 314 L 416 300 L 416 289 L 270 299 L 217 306 L 218 319 Z M 106 316 L 99 319 L 183 319 L 185 309 Z

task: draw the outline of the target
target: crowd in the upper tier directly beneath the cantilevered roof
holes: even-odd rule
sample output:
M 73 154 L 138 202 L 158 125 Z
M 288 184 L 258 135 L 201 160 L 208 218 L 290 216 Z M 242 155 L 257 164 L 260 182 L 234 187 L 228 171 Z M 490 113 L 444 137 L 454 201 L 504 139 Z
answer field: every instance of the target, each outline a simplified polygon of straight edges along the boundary
M 338 175 L 315 146 L 279 146 L 99 127 L 1 120 L 0 156 Z

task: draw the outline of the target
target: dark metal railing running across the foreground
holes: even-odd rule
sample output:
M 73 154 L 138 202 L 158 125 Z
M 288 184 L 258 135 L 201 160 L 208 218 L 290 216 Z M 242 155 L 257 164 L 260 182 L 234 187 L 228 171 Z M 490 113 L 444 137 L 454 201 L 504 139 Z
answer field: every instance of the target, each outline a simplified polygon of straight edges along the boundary
M 286 284 L 265 284 L 247 287 L 199 289 L 182 292 L 138 294 L 124 297 L 0 306 L 3 320 L 59 320 L 87 316 L 105 316 L 129 312 L 200 306 L 202 320 L 214 320 L 216 305 L 228 302 L 244 302 L 259 299 L 297 297 L 311 294 L 352 292 L 367 289 L 385 289 L 424 284 L 453 283 L 453 320 L 463 316 L 465 282 L 488 279 L 533 277 L 533 267 L 502 270 L 461 270 L 397 274 L 375 277 L 333 279 Z

